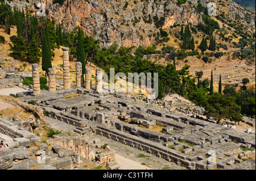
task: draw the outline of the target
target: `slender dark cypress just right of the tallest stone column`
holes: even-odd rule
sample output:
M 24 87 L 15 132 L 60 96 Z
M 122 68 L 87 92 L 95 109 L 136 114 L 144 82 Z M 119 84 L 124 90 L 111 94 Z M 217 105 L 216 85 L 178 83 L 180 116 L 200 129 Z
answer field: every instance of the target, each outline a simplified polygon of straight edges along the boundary
M 84 83 L 85 74 L 85 53 L 84 43 L 82 42 L 82 33 L 79 27 L 78 40 L 77 40 L 77 61 L 82 63 L 82 82 Z

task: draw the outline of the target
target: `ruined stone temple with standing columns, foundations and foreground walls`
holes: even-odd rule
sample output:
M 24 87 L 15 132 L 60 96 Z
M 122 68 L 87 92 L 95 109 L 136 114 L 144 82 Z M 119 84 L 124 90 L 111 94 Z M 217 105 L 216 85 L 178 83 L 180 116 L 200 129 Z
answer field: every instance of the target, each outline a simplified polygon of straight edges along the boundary
M 80 85 L 81 66 L 77 64 L 78 82 L 71 85 L 67 56 L 68 48 L 63 48 L 64 88 L 38 91 L 38 65 L 33 65 L 35 90 L 20 100 L 35 100 L 47 117 L 70 127 L 69 131 L 76 136 L 61 133 L 47 144 L 40 144 L 40 137 L 24 131 L 15 121 L 1 118 L 0 132 L 9 137 L 5 142 L 10 149 L 0 154 L 1 169 L 33 169 L 31 157 L 36 157 L 37 169 L 85 169 L 83 163 L 118 169 L 113 141 L 122 144 L 129 153 L 142 151 L 172 169 L 255 169 L 255 134 L 236 132 L 198 115 L 161 108 L 157 100 L 151 100 L 156 104 L 147 104 L 139 96 L 102 92 L 101 69 L 96 70 L 93 89 L 91 69 L 85 68 L 85 86 Z M 21 152 L 23 157 L 18 157 Z M 26 164 L 14 164 L 24 160 Z

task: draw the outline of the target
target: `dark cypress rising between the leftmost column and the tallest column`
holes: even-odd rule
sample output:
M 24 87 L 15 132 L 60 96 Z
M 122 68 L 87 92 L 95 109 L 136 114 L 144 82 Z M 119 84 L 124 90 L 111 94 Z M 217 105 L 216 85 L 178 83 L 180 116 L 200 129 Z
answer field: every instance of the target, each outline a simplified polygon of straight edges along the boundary
M 48 48 L 48 41 L 45 33 L 43 35 L 42 55 L 43 55 L 42 70 L 46 71 L 46 75 L 47 75 L 48 69 L 52 68 L 52 62 L 51 62 L 51 54 L 49 53 L 49 48 Z

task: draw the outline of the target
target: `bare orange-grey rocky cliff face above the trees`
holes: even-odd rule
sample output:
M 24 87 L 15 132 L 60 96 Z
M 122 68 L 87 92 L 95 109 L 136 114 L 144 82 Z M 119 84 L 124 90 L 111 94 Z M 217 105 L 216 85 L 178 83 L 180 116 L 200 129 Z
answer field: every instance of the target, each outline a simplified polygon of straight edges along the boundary
M 26 6 L 38 12 L 39 0 L 5 0 L 12 9 Z M 179 2 L 181 2 L 179 0 Z M 198 1 L 199 2 L 199 1 Z M 154 43 L 159 27 L 168 31 L 170 26 L 202 21 L 196 11 L 197 0 L 178 3 L 177 0 L 42 0 L 50 19 L 63 24 L 66 31 L 81 26 L 86 35 L 100 39 L 101 45 L 109 47 L 116 43 L 148 46 Z M 216 3 L 216 15 L 223 23 L 238 23 L 252 35 L 255 32 L 255 14 L 247 12 L 231 0 L 200 0 L 203 6 Z M 157 18 L 157 19 L 156 19 Z

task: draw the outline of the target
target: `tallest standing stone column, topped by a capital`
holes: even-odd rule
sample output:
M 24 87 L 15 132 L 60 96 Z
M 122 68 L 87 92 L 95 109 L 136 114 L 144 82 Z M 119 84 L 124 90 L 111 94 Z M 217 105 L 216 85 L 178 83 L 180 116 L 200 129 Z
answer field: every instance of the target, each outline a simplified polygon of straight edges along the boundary
M 69 73 L 69 55 L 68 47 L 61 48 L 63 50 L 63 82 L 64 89 L 70 89 L 70 73 Z

